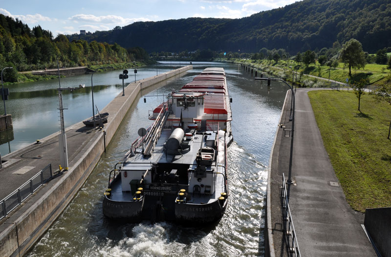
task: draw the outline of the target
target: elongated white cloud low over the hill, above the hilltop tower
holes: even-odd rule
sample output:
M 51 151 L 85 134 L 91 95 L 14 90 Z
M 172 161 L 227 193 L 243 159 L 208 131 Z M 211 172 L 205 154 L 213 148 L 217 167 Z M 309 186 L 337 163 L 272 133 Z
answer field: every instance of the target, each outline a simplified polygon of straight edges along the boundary
M 77 14 L 70 18 L 73 22 L 89 22 L 89 23 L 105 23 L 105 24 L 118 24 L 127 25 L 134 22 L 149 22 L 147 18 L 123 18 L 116 15 L 95 16 L 92 14 Z

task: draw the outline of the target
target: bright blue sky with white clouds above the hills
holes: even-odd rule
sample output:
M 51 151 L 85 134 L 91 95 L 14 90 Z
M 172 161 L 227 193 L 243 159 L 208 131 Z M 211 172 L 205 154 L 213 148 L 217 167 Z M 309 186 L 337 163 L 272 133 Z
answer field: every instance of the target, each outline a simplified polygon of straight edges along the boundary
M 3 0 L 0 13 L 18 18 L 30 28 L 41 25 L 57 34 L 94 32 L 138 21 L 189 17 L 242 18 L 283 7 L 297 0 Z

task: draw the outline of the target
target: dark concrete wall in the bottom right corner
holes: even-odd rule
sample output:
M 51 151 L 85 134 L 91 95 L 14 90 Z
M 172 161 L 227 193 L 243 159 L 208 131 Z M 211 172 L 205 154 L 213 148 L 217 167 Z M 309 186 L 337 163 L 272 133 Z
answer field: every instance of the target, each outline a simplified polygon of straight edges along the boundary
M 365 210 L 364 226 L 382 256 L 391 256 L 391 207 Z

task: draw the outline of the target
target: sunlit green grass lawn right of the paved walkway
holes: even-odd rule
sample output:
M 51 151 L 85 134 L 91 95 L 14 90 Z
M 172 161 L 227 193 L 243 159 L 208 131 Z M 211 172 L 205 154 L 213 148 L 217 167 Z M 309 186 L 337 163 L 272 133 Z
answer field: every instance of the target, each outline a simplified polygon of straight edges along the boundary
M 387 139 L 391 106 L 371 95 L 352 92 L 308 93 L 326 151 L 349 205 L 391 206 L 391 140 Z

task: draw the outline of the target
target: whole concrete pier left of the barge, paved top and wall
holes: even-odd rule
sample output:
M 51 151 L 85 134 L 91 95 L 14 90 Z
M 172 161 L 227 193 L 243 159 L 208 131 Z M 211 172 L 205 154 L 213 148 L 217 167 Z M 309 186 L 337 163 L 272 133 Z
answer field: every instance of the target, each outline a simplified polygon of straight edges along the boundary
M 22 256 L 43 235 L 82 187 L 92 169 L 98 163 L 130 106 L 140 97 L 140 90 L 148 89 L 168 78 L 180 76 L 192 66 L 168 71 L 158 76 L 130 83 L 125 96 L 119 93 L 101 112 L 108 112 L 105 124 L 106 138 L 99 128 L 88 128 L 82 122 L 66 128 L 69 169 L 59 172 L 60 132 L 43 138 L 39 144 L 31 144 L 4 156 L 3 161 L 12 164 L 0 169 L 0 199 L 28 181 L 33 175 L 51 164 L 57 177 L 27 198 L 6 217 L 0 220 L 0 256 Z M 161 86 L 165 85 L 161 83 Z M 106 142 L 106 145 L 105 143 Z M 15 171 L 29 167 L 24 174 Z

